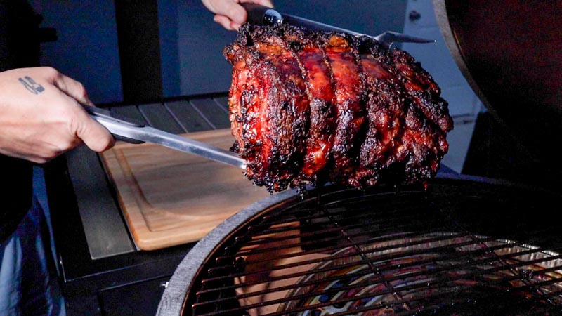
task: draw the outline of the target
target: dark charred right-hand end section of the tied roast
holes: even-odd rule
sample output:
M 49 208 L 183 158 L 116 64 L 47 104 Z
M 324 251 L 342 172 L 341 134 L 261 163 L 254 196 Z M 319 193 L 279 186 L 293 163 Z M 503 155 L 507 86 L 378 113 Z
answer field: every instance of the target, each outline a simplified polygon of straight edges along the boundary
M 452 129 L 439 87 L 406 52 L 362 41 L 369 128 L 358 183 L 374 185 L 384 173 L 405 183 L 431 178 L 448 150 L 445 136 Z

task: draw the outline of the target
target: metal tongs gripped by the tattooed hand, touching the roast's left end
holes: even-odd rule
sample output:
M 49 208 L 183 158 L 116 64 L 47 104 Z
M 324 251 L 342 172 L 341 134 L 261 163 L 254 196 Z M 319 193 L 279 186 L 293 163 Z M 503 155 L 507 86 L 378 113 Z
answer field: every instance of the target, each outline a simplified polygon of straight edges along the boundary
M 143 122 L 123 117 L 115 112 L 103 110 L 99 107 L 83 106 L 86 112 L 88 112 L 93 119 L 105 126 L 117 140 L 123 140 L 133 144 L 145 142 L 155 143 L 174 150 L 197 154 L 198 156 L 216 162 L 246 169 L 246 161 L 240 158 L 235 152 L 229 152 L 228 150 L 201 143 L 197 140 L 191 140 L 173 133 L 145 126 Z

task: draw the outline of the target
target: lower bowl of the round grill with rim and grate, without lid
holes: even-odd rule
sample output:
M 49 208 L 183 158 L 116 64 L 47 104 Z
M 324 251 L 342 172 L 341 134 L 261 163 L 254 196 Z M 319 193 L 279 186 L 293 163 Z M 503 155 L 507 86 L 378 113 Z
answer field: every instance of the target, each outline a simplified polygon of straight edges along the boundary
M 560 198 L 444 179 L 285 192 L 202 239 L 159 314 L 556 315 Z

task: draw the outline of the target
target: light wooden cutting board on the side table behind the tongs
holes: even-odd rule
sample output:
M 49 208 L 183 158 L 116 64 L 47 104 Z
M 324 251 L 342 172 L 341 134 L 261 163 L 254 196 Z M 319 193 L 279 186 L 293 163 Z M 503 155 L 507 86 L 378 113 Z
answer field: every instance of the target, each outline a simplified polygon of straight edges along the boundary
M 230 129 L 183 136 L 228 150 Z M 268 197 L 242 169 L 160 145 L 117 143 L 101 154 L 136 245 L 194 242 L 244 207 Z

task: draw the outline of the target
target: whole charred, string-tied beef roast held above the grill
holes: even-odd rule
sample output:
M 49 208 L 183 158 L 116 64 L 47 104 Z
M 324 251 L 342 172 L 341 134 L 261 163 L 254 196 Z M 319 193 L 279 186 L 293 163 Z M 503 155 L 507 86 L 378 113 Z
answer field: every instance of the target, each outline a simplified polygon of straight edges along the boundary
M 452 129 L 447 102 L 411 55 L 368 37 L 242 25 L 225 48 L 232 150 L 270 191 L 433 177 Z

